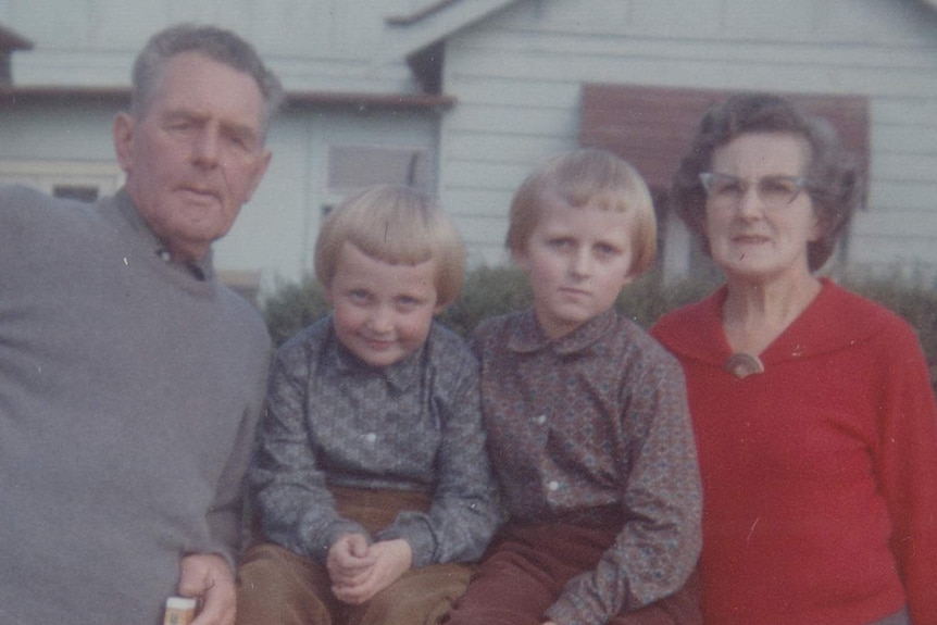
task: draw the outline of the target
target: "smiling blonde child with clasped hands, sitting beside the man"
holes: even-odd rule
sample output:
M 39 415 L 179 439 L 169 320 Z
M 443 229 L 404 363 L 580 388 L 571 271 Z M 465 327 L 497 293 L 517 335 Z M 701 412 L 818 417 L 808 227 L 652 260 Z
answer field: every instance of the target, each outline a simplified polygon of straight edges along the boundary
M 237 623 L 436 623 L 498 523 L 478 365 L 434 321 L 462 242 L 427 195 L 370 187 L 325 220 L 315 271 L 333 312 L 273 364 Z

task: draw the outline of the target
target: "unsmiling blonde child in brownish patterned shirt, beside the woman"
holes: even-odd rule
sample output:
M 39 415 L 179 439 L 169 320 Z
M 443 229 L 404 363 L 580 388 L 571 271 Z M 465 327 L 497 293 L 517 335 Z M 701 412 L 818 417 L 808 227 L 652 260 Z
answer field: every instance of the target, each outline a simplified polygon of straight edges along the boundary
M 449 625 L 700 622 L 694 588 L 677 592 L 700 549 L 683 375 L 614 310 L 655 235 L 644 180 L 604 151 L 550 161 L 514 196 L 508 248 L 534 303 L 474 336 L 510 521 Z

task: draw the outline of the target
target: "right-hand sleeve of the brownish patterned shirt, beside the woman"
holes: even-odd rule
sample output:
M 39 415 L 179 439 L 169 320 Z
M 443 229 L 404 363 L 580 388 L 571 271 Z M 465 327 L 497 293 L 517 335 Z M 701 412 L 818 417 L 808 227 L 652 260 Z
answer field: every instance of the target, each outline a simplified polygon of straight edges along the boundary
M 547 611 L 559 625 L 602 625 L 675 592 L 701 547 L 701 487 L 684 378 L 675 361 L 629 389 L 622 441 L 627 520 L 595 570 L 571 579 Z

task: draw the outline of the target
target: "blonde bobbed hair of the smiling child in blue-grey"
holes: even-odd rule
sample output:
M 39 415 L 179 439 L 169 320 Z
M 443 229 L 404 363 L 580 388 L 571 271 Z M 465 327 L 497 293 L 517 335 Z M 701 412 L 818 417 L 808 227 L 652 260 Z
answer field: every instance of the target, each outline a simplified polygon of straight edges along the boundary
M 437 305 L 459 297 L 465 248 L 436 200 L 401 185 L 376 185 L 349 195 L 325 218 L 315 241 L 315 275 L 328 287 L 346 242 L 389 264 L 436 265 Z

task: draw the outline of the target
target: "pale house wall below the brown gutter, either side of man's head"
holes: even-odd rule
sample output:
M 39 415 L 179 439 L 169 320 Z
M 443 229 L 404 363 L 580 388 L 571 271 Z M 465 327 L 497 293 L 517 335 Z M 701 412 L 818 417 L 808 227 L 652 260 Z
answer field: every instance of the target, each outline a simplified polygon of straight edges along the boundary
M 22 173 L 24 167 L 42 172 L 61 170 L 63 164 L 76 170 L 92 166 L 109 178 L 120 177 L 111 139 L 118 109 L 108 103 L 0 107 L 0 184 L 10 182 L 4 168 L 12 167 L 20 174 L 14 178 L 33 184 Z M 435 115 L 346 110 L 284 113 L 267 138 L 273 160 L 266 176 L 232 230 L 215 245 L 215 264 L 225 272 L 258 274 L 264 291 L 300 279 L 312 271 L 322 209 L 341 197 L 329 192 L 326 184 L 329 147 L 379 145 L 435 153 L 437 141 Z

